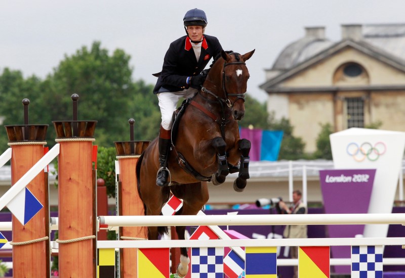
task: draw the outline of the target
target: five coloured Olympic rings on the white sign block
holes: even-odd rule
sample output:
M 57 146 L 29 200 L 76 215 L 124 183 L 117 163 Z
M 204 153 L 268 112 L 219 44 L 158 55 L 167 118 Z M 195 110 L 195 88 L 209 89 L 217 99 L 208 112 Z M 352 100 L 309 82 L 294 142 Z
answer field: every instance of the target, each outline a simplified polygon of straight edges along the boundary
M 379 157 L 387 151 L 387 146 L 383 142 L 377 142 L 374 146 L 365 142 L 358 146 L 357 143 L 350 143 L 346 147 L 346 152 L 349 156 L 353 157 L 355 161 L 361 162 L 366 158 L 370 161 L 376 161 Z

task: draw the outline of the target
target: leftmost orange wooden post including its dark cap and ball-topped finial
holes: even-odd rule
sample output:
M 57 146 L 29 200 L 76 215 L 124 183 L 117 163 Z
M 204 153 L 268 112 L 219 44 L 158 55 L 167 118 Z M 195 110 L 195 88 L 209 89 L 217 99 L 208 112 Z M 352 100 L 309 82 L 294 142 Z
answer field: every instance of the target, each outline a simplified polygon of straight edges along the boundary
M 29 100 L 24 105 L 24 125 L 7 125 L 12 149 L 11 184 L 15 184 L 44 156 L 48 125 L 28 124 Z M 44 206 L 25 225 L 12 216 L 13 277 L 50 277 L 48 173 L 40 172 L 26 187 Z M 23 204 L 22 204 L 23 205 Z M 34 241 L 34 242 L 33 242 Z

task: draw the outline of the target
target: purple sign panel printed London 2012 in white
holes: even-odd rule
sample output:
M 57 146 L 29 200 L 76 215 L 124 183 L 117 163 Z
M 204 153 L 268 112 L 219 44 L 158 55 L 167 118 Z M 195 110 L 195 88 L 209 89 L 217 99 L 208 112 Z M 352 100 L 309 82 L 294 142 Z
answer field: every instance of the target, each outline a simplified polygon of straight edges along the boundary
M 320 170 L 325 213 L 367 213 L 376 169 Z M 365 225 L 328 225 L 330 238 L 362 235 Z M 332 258 L 350 258 L 350 246 L 332 246 Z M 350 266 L 335 266 L 336 273 L 350 273 Z

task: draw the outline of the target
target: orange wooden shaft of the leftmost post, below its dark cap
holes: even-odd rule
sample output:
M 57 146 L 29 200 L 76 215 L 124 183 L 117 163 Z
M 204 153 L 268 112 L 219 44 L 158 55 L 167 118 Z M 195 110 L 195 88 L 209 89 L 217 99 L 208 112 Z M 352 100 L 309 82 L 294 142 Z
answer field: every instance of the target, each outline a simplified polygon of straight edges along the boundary
M 12 145 L 11 183 L 16 183 L 43 156 L 43 145 Z M 41 172 L 27 185 L 44 208 L 25 225 L 12 216 L 14 244 L 43 239 L 13 246 L 13 276 L 16 278 L 49 277 L 49 239 L 45 238 L 49 237 L 49 204 L 45 184 L 45 172 Z

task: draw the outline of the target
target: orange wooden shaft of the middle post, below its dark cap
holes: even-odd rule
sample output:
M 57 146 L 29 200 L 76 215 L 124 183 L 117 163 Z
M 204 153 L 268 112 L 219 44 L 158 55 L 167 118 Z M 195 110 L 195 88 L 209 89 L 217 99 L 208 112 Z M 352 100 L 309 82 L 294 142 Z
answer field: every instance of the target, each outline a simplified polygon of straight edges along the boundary
M 59 273 L 91 278 L 95 276 L 92 236 L 96 220 L 93 145 L 86 141 L 59 144 Z

